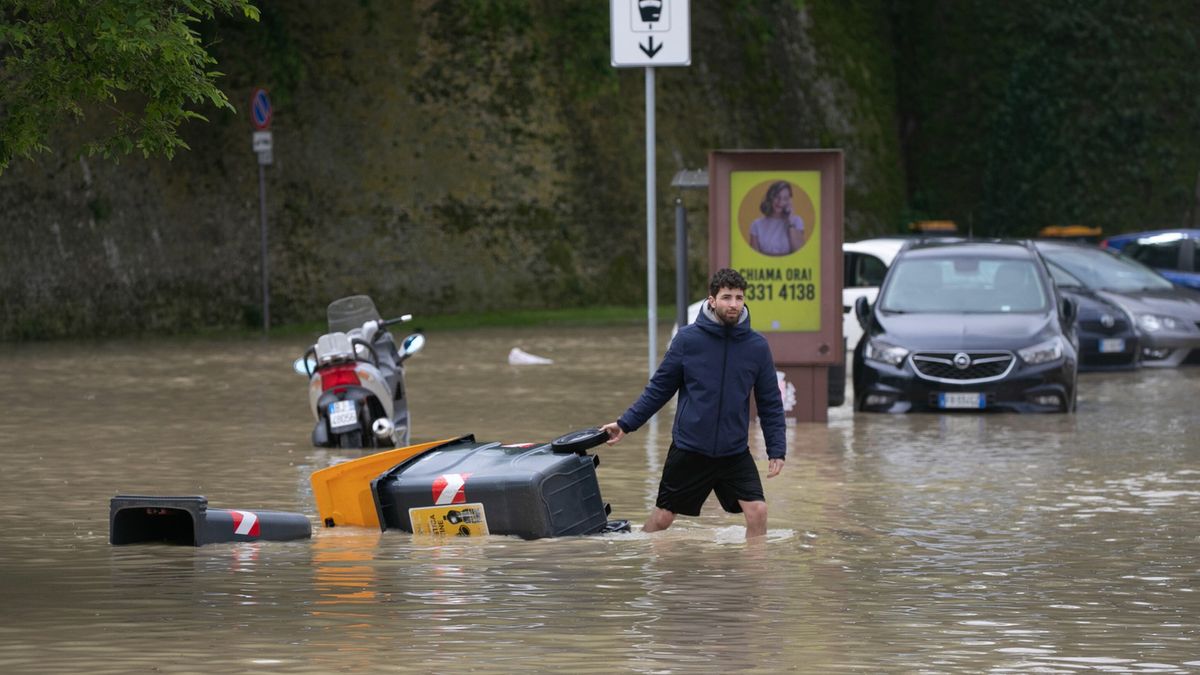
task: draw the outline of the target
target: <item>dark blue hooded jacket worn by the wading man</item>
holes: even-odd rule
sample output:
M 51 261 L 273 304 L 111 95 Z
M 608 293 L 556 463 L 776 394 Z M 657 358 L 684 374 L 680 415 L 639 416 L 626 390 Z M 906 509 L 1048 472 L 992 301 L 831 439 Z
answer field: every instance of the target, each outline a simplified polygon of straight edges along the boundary
M 696 322 L 683 327 L 650 377 L 646 390 L 617 424 L 636 430 L 679 393 L 672 438 L 677 448 L 710 456 L 744 453 L 750 447 L 750 392 L 767 456 L 787 454 L 784 401 L 767 339 L 750 329 L 743 309 L 736 325 L 716 321 L 704 304 Z

